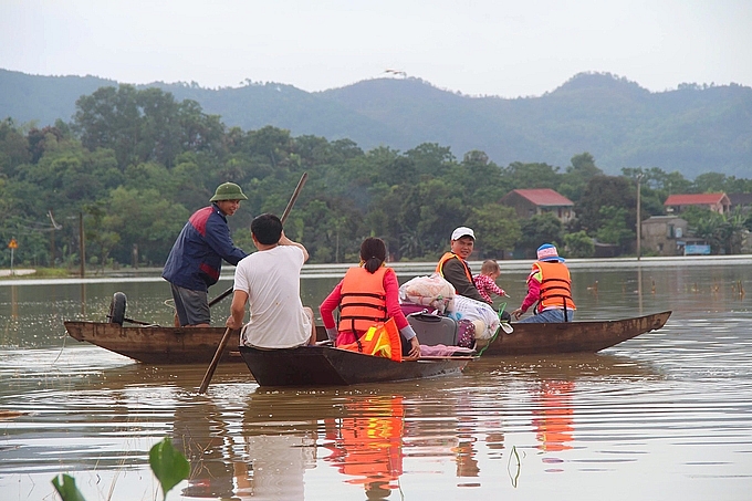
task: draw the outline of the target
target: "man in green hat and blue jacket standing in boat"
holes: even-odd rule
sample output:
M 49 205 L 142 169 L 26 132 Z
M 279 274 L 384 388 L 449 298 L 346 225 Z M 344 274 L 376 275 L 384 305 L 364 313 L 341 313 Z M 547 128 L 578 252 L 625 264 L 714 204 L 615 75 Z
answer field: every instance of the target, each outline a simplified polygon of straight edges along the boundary
M 240 200 L 248 200 L 240 186 L 219 185 L 212 203 L 194 212 L 167 257 L 161 276 L 171 285 L 180 326 L 209 326 L 209 286 L 219 280 L 222 260 L 238 264 L 248 255 L 234 247 L 227 226 Z

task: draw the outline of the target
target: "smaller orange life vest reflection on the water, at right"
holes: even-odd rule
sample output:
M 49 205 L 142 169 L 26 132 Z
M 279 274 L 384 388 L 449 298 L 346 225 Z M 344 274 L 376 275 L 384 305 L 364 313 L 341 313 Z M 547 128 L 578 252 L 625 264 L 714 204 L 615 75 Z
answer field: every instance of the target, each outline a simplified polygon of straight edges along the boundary
M 572 449 L 574 419 L 572 415 L 572 393 L 574 383 L 568 380 L 544 382 L 540 394 L 541 408 L 534 410 L 540 417 L 533 419 L 539 449 L 562 451 Z

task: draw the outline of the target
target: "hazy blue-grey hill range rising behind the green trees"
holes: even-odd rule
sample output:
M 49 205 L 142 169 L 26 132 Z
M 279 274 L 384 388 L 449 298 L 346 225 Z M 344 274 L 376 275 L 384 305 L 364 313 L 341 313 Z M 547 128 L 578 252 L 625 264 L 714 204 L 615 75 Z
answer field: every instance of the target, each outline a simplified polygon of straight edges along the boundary
M 0 117 L 69 122 L 75 100 L 105 85 L 115 82 L 0 70 Z M 320 93 L 273 83 L 152 86 L 197 101 L 228 126 L 273 125 L 294 136 L 349 138 L 364 149 L 438 143 L 459 157 L 482 150 L 499 165 L 566 166 L 573 154 L 589 152 L 609 174 L 623 167 L 659 167 L 690 178 L 752 171 L 752 88 L 740 85 L 651 93 L 625 79 L 579 74 L 543 96 L 516 100 L 466 96 L 417 79 L 368 80 Z

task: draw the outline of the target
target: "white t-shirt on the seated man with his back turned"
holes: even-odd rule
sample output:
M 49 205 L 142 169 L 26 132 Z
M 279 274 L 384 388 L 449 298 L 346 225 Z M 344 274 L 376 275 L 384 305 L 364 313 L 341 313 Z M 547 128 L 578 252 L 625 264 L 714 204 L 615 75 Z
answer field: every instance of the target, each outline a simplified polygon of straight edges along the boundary
M 278 246 L 243 258 L 236 268 L 236 291 L 248 293 L 251 320 L 240 342 L 260 348 L 290 348 L 306 344 L 311 320 L 301 302 L 303 251 Z

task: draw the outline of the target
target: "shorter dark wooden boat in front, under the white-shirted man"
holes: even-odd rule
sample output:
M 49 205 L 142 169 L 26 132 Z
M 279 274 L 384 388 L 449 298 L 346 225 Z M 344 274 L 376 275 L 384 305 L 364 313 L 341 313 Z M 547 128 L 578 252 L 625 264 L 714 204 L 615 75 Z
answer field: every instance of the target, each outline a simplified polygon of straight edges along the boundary
M 333 386 L 399 382 L 460 374 L 470 356 L 395 362 L 328 346 L 257 349 L 240 355 L 260 386 Z

